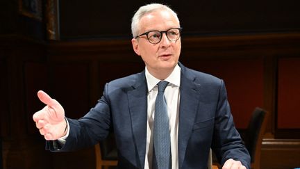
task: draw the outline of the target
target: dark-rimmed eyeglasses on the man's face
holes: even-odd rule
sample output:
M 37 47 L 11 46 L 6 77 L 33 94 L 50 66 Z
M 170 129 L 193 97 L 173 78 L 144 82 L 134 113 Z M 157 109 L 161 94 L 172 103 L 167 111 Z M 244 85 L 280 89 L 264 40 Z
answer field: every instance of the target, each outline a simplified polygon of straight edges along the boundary
M 180 38 L 181 30 L 182 28 L 172 28 L 167 31 L 148 31 L 136 36 L 135 39 L 140 38 L 142 35 L 146 35 L 150 43 L 157 44 L 163 38 L 163 33 L 165 33 L 169 41 L 175 42 Z

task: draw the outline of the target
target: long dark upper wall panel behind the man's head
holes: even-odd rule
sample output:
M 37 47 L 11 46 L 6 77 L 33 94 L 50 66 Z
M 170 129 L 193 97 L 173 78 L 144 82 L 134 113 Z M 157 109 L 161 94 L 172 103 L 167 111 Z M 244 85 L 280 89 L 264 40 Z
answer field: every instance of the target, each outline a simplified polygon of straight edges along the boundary
M 151 2 L 60 1 L 61 38 L 130 38 L 134 11 Z M 176 10 L 185 35 L 300 30 L 297 0 L 162 2 Z

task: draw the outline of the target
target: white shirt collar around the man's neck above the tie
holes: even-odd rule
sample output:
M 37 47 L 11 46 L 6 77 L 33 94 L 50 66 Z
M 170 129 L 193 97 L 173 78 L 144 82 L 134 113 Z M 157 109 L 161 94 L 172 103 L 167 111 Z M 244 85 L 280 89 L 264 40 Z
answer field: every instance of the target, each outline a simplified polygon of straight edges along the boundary
M 149 73 L 147 67 L 145 68 L 145 76 L 147 79 L 147 86 L 148 86 L 148 92 L 151 91 L 158 82 L 160 82 L 160 79 L 156 79 L 156 77 L 153 77 L 152 74 Z M 165 79 L 165 81 L 172 83 L 174 86 L 180 86 L 181 81 L 181 67 L 176 65 L 174 67 L 173 72 Z

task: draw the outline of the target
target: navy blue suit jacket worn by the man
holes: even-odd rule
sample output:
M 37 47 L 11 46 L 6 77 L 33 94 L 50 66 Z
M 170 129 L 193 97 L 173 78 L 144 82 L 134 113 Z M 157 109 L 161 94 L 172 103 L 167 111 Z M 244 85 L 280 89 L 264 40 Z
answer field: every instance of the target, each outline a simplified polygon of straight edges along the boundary
M 221 79 L 181 67 L 178 124 L 179 168 L 207 168 L 210 147 L 223 165 L 239 160 L 250 168 L 250 156 L 235 129 Z M 103 96 L 79 120 L 69 120 L 69 136 L 59 151 L 87 147 L 113 129 L 119 168 L 144 168 L 147 137 L 147 81 L 144 71 L 106 83 Z M 57 151 L 53 143 L 47 149 Z

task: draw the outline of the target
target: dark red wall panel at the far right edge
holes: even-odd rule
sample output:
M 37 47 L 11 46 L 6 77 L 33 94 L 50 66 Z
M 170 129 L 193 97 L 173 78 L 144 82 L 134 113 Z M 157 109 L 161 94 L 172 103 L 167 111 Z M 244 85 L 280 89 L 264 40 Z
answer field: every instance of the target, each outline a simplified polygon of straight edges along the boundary
M 300 129 L 300 58 L 278 60 L 278 129 Z

